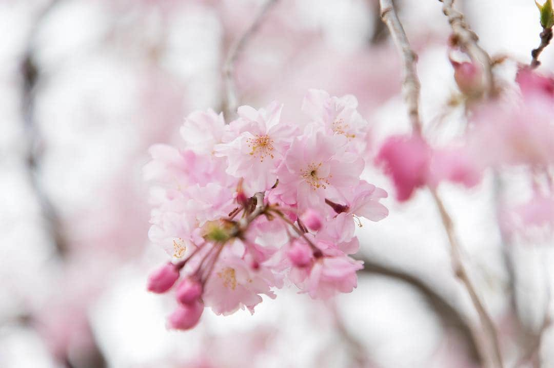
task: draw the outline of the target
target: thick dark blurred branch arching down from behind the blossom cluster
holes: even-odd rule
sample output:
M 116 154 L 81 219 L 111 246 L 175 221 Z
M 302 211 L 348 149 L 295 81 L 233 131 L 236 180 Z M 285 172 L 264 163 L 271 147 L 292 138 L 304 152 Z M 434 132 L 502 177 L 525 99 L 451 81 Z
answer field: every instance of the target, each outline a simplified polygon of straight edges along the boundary
M 440 322 L 445 328 L 453 328 L 458 331 L 461 338 L 467 344 L 469 355 L 475 360 L 476 364 L 481 365 L 481 357 L 479 356 L 478 341 L 474 339 L 471 329 L 465 322 L 464 317 L 447 302 L 440 294 L 435 292 L 433 288 L 425 284 L 419 278 L 412 276 L 409 273 L 394 269 L 391 267 L 379 265 L 376 262 L 368 260 L 368 258 L 362 258 L 363 269 L 362 272 L 369 274 L 378 274 L 386 277 L 397 279 L 398 281 L 405 282 L 415 288 L 419 293 L 423 295 L 433 312 L 438 315 Z

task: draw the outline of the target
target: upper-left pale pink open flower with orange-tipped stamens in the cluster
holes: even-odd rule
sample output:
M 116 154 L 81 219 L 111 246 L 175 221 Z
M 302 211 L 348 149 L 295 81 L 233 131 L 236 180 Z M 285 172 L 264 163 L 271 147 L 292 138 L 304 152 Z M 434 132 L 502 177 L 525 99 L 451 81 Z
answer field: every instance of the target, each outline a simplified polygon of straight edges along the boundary
M 243 178 L 250 195 L 275 184 L 276 169 L 294 137 L 294 127 L 280 122 L 281 108 L 276 102 L 266 110 L 239 107 L 239 119 L 230 123 L 238 137 L 215 148 L 216 156 L 227 158 L 226 172 Z

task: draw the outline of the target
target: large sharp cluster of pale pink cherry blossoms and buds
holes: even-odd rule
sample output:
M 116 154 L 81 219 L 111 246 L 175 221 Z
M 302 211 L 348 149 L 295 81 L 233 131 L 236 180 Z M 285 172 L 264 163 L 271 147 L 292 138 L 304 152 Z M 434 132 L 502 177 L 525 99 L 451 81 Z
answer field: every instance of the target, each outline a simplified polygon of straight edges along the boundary
M 368 124 L 355 97 L 321 90 L 307 93 L 295 121 L 282 108 L 241 106 L 228 124 L 196 111 L 181 149 L 151 147 L 149 237 L 173 259 L 148 289 L 175 292 L 171 328 L 193 328 L 204 307 L 253 313 L 261 294 L 275 298 L 285 282 L 312 298 L 356 287 L 356 224 L 388 215 L 386 191 L 360 179 Z

